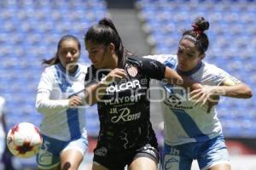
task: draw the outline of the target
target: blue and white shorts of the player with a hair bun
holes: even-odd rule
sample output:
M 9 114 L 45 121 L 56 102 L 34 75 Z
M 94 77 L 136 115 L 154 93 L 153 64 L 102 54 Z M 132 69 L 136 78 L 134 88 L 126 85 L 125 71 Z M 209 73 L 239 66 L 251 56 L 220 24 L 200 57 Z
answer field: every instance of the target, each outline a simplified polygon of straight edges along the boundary
M 200 169 L 208 169 L 221 163 L 230 163 L 230 156 L 223 136 L 206 142 L 195 142 L 171 146 L 165 144 L 164 170 L 190 170 L 193 160 Z

